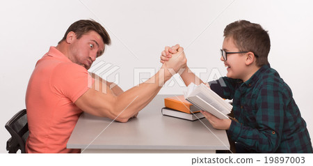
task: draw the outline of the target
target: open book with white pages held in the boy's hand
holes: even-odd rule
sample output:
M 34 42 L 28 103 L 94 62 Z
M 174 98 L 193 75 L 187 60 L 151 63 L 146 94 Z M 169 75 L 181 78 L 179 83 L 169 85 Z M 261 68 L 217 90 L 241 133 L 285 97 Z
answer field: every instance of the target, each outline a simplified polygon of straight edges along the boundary
M 195 86 L 193 83 L 189 84 L 184 97 L 195 107 L 207 111 L 219 119 L 228 119 L 229 116 L 227 114 L 230 114 L 232 111 L 230 103 L 220 98 L 218 94 L 204 84 L 200 84 L 200 86 Z

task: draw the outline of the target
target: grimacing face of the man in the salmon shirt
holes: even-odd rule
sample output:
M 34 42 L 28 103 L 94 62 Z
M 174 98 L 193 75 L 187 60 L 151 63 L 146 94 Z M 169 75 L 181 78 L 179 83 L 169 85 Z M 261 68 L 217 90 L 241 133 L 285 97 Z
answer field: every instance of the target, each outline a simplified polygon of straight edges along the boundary
M 69 59 L 87 70 L 93 61 L 104 52 L 104 43 L 101 36 L 95 31 L 89 31 L 77 39 L 74 35 L 70 44 Z

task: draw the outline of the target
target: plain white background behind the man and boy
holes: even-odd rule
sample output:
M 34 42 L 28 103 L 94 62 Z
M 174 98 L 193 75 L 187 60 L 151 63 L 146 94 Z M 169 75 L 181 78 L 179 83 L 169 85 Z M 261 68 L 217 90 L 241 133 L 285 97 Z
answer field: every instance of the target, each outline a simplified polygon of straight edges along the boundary
M 198 68 L 194 71 L 201 73 L 202 80 L 224 76 L 218 50 L 225 26 L 236 20 L 261 24 L 271 37 L 271 67 L 291 87 L 313 137 L 312 8 L 312 1 L 286 0 L 1 1 L 0 153 L 6 153 L 10 137 L 4 124 L 25 108 L 26 87 L 36 61 L 49 46 L 57 45 L 70 24 L 90 18 L 100 22 L 112 40 L 94 65 L 105 61 L 111 68 L 118 66 L 107 79 L 118 81 L 124 90 L 139 81 L 135 68 L 156 72 L 164 46 L 176 43 L 184 47 L 188 66 Z M 141 75 L 141 79 L 148 77 Z M 177 81 L 169 82 L 160 93 L 182 93 L 184 88 Z

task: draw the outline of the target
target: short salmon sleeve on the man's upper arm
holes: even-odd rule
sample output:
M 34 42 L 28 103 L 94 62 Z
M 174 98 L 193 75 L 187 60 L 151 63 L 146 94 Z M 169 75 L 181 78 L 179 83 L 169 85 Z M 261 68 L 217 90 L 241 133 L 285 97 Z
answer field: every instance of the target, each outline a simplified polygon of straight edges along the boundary
M 91 88 L 94 80 L 83 66 L 76 63 L 60 63 L 54 68 L 49 82 L 52 91 L 75 103 Z

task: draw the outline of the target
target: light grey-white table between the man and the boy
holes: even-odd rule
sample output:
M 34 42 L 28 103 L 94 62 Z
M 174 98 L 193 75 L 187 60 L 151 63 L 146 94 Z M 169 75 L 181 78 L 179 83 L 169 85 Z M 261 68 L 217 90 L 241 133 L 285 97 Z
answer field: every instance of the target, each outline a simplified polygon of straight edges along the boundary
M 156 96 L 127 123 L 81 114 L 67 148 L 82 153 L 215 153 L 230 149 L 225 130 L 214 129 L 207 119 L 163 116 L 163 98 L 168 96 Z

